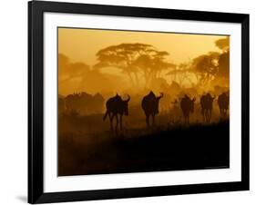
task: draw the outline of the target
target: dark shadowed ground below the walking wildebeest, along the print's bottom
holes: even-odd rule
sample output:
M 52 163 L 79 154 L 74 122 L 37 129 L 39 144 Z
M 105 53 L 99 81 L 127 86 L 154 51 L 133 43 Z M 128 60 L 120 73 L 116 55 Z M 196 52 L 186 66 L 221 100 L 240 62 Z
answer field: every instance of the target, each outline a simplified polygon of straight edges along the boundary
M 77 132 L 68 129 L 71 122 Z M 58 136 L 59 176 L 228 168 L 230 164 L 229 122 L 132 129 L 118 135 L 89 126 L 85 131 L 78 129 L 83 121 L 71 122 L 59 120 L 65 127 Z

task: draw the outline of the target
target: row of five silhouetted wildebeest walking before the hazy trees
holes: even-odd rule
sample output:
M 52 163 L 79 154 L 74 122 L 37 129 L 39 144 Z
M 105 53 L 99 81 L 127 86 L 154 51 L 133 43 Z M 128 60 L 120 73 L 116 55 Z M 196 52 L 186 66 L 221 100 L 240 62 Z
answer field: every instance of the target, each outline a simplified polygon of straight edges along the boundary
M 163 97 L 163 93 L 160 93 L 159 96 L 156 96 L 152 91 L 143 97 L 141 101 L 141 108 L 146 115 L 146 123 L 148 127 L 155 125 L 155 116 L 159 114 L 159 101 Z M 200 108 L 203 122 L 210 123 L 214 99 L 216 99 L 216 96 L 211 96 L 210 93 L 206 93 L 200 96 Z M 189 96 L 185 94 L 184 97 L 179 100 L 179 106 L 183 113 L 184 122 L 189 124 L 189 115 L 190 113 L 194 112 L 194 102 L 196 102 L 196 98 L 194 97 L 190 99 Z M 128 116 L 129 101 L 129 95 L 127 100 L 123 100 L 117 93 L 116 96 L 109 98 L 106 102 L 107 111 L 103 117 L 103 120 L 106 120 L 107 116 L 109 117 L 110 128 L 112 131 L 114 118 L 117 122 L 115 127 L 116 132 L 118 131 L 118 125 L 120 130 L 122 130 L 122 118 L 123 115 Z M 230 104 L 229 92 L 221 93 L 217 99 L 217 102 L 220 109 L 220 118 L 226 118 Z M 150 117 L 152 119 L 151 123 Z

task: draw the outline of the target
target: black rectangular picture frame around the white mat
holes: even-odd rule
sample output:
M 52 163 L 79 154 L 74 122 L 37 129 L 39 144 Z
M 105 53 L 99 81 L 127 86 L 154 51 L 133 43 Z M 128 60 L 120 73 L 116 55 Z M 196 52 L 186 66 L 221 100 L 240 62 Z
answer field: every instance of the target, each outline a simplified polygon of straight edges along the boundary
M 44 13 L 134 16 L 241 24 L 241 181 L 113 190 L 44 192 Z M 249 190 L 249 15 L 114 5 L 28 3 L 28 202 L 104 200 Z

